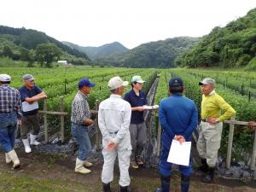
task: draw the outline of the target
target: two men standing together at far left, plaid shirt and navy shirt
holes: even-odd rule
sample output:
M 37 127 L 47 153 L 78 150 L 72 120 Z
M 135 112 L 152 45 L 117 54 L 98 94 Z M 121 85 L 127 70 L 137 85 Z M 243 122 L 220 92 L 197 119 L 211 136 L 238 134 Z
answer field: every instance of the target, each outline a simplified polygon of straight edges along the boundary
M 14 168 L 20 166 L 14 148 L 17 127 L 20 126 L 20 137 L 25 151 L 30 153 L 30 145 L 39 144 L 36 140 L 40 130 L 38 100 L 47 98 L 44 91 L 34 84 L 35 79 L 31 74 L 24 75 L 22 79 L 24 85 L 16 90 L 9 86 L 11 77 L 8 74 L 0 74 L 0 144 L 6 163 L 13 162 Z

